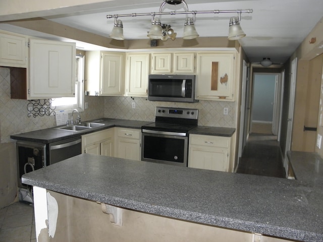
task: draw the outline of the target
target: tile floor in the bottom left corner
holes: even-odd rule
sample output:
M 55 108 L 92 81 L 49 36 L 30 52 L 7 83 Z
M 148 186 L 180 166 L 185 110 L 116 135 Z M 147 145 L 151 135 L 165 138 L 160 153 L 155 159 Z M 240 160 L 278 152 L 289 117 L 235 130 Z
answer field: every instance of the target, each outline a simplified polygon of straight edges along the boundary
M 0 242 L 36 242 L 32 205 L 16 202 L 0 209 Z

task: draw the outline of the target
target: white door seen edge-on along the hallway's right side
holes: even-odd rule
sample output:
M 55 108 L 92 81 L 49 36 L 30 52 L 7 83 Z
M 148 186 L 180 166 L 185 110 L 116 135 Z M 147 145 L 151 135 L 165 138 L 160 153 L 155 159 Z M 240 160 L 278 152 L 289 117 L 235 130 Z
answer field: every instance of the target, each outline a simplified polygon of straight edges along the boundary
M 297 71 L 297 58 L 293 59 L 292 65 L 291 65 L 291 84 L 290 84 L 290 92 L 289 92 L 290 95 L 289 95 L 289 108 L 288 108 L 288 119 L 287 119 L 288 125 L 287 125 L 286 148 L 285 148 L 285 154 L 284 154 L 285 170 L 288 170 L 287 152 L 290 151 L 291 149 L 291 141 L 292 141 L 296 71 Z

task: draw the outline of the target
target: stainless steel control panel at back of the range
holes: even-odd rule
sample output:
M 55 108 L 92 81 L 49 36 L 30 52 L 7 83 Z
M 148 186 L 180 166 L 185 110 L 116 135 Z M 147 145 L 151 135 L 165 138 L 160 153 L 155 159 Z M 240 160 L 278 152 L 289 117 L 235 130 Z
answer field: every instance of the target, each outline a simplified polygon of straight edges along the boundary
M 155 116 L 197 119 L 198 109 L 177 108 L 177 107 L 156 107 Z

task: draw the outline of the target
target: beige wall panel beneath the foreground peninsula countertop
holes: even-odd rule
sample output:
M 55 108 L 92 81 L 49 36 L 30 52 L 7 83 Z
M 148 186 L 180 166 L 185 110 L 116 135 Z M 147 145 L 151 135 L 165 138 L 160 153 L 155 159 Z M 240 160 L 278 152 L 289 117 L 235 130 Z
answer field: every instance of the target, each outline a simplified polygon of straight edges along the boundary
M 122 225 L 110 222 L 101 204 L 51 192 L 58 203 L 56 233 L 50 241 L 226 241 L 252 242 L 251 232 L 225 229 L 121 209 Z M 36 235 L 37 236 L 37 235 Z M 48 233 L 47 233 L 48 236 Z M 45 238 L 42 237 L 46 241 Z M 283 242 L 262 236 L 262 242 Z M 288 240 L 292 241 L 292 240 Z

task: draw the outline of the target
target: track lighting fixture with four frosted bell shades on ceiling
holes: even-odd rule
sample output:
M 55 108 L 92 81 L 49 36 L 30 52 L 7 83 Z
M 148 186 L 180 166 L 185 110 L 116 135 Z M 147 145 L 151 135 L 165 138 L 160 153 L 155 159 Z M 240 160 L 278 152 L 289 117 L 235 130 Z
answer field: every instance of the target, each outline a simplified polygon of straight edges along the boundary
M 162 12 L 165 4 L 171 4 L 171 5 L 178 5 L 178 4 L 184 4 L 186 11 L 185 12 Z M 111 38 L 123 40 L 123 25 L 121 20 L 117 20 L 117 18 L 120 17 L 136 17 L 136 16 L 151 16 L 151 28 L 147 34 L 147 36 L 150 39 L 161 39 L 161 40 L 167 40 L 168 38 L 171 38 L 172 40 L 175 40 L 176 33 L 174 33 L 174 30 L 171 28 L 171 25 L 168 24 L 161 24 L 160 19 L 156 16 L 160 15 L 176 15 L 176 14 L 192 14 L 193 18 L 186 17 L 185 23 L 184 23 L 184 33 L 183 33 L 183 39 L 195 39 L 199 35 L 194 27 L 195 22 L 195 15 L 196 14 L 221 14 L 221 13 L 236 13 L 238 14 L 238 17 L 232 17 L 230 19 L 229 23 L 229 40 L 237 40 L 241 39 L 246 34 L 243 32 L 240 26 L 240 16 L 241 13 L 252 13 L 252 9 L 247 10 L 214 10 L 214 11 L 188 11 L 188 6 L 185 2 L 185 0 L 163 0 L 163 3 L 159 7 L 159 13 L 142 13 L 142 14 L 115 14 L 115 15 L 106 15 L 107 19 L 115 18 L 115 25 L 114 28 L 110 34 Z

